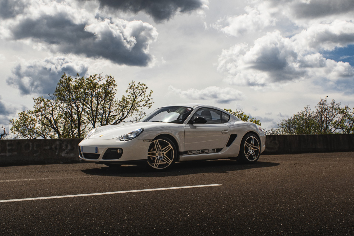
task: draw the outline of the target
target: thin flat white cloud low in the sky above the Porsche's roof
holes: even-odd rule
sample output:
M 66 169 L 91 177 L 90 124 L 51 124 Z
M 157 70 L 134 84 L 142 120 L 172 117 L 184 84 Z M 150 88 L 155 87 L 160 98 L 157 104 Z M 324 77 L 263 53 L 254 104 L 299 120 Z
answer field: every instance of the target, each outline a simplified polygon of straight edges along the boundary
M 241 91 L 235 90 L 234 88 L 220 88 L 216 86 L 210 86 L 202 90 L 190 88 L 187 91 L 169 86 L 169 92 L 176 93 L 182 98 L 188 98 L 190 100 L 214 100 L 216 103 L 230 103 L 244 99 L 244 95 Z

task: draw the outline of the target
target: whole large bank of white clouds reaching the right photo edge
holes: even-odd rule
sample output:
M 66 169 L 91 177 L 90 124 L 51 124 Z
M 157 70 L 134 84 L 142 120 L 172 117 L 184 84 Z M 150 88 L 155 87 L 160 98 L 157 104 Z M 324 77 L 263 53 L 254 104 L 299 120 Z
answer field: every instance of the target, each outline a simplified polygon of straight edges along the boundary
M 320 53 L 349 44 L 354 44 L 354 24 L 348 21 L 314 24 L 291 38 L 275 30 L 256 39 L 253 46 L 236 44 L 223 50 L 217 69 L 225 73 L 229 84 L 254 88 L 298 79 L 327 83 L 346 79 L 354 84 L 354 69 L 349 63 L 326 59 Z M 347 92 L 353 93 L 353 87 Z

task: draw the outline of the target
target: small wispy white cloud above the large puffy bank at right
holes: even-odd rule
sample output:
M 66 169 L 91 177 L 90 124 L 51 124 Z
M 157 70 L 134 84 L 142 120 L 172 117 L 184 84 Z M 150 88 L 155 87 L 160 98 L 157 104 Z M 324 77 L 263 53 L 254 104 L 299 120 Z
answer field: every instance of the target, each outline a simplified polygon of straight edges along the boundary
M 262 6 L 259 8 L 262 9 Z M 232 36 L 260 31 L 263 28 L 274 25 L 275 17 L 271 16 L 270 11 L 262 11 L 259 8 L 247 6 L 244 15 L 229 16 L 219 19 L 213 27 Z

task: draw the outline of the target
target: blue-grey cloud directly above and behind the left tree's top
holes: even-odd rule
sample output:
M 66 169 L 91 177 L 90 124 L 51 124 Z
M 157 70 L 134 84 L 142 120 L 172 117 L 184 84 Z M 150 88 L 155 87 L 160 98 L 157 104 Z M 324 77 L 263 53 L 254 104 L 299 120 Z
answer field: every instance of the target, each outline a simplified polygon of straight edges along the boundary
M 46 58 L 44 61 L 33 61 L 28 64 L 18 64 L 8 77 L 8 85 L 19 89 L 22 95 L 53 93 L 60 77 L 66 73 L 75 76 L 79 73 L 85 76 L 87 66 L 73 63 L 65 57 Z

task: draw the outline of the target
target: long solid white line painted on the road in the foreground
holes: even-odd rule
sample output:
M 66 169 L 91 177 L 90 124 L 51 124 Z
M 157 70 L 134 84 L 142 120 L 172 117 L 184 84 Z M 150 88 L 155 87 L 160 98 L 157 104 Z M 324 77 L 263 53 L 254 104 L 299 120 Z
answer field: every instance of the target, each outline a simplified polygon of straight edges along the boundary
M 65 198 L 65 197 L 85 197 L 85 196 L 108 195 L 108 194 L 122 194 L 127 192 L 148 192 L 148 191 L 171 190 L 171 189 L 189 189 L 189 188 L 211 187 L 211 186 L 220 186 L 220 185 L 221 184 L 205 184 L 205 185 L 193 185 L 193 186 L 170 187 L 170 188 L 159 188 L 159 189 L 139 189 L 139 190 L 116 191 L 116 192 L 98 192 L 95 194 L 76 194 L 76 195 L 63 195 L 63 196 L 52 196 L 52 197 L 32 197 L 32 198 L 0 200 L 0 202 L 32 201 L 32 200 L 54 199 L 54 198 Z

